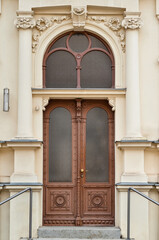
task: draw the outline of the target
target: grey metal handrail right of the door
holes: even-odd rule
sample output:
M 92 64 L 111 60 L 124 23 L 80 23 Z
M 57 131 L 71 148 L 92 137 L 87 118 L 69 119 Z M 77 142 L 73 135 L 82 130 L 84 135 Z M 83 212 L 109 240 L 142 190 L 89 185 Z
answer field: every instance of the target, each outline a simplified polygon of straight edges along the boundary
M 135 188 L 130 187 L 128 189 L 128 209 L 127 209 L 127 239 L 126 240 L 130 240 L 130 191 L 134 191 L 137 194 L 139 194 L 140 196 L 148 199 L 149 201 L 153 202 L 154 204 L 159 206 L 159 202 L 156 202 L 155 200 L 153 200 L 152 198 L 149 198 L 148 196 L 146 196 L 145 194 L 139 192 L 138 190 L 136 190 Z

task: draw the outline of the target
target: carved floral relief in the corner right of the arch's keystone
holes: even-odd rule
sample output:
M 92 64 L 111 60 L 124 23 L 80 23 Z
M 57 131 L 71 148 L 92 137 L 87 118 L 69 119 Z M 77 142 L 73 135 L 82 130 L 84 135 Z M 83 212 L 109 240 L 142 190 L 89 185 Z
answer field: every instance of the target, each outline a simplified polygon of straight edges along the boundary
M 88 20 L 95 21 L 96 23 L 104 23 L 104 25 L 112 30 L 118 37 L 122 51 L 125 52 L 125 29 L 122 27 L 122 20 L 116 17 L 108 19 L 104 16 L 89 16 Z

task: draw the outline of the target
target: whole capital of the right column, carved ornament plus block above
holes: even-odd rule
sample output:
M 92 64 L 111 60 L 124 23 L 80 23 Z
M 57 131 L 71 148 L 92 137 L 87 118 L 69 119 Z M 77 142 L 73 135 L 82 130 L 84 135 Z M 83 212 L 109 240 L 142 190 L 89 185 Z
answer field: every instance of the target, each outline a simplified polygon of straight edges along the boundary
M 141 12 L 125 12 L 125 18 L 122 21 L 122 26 L 125 29 L 139 29 L 143 26 L 143 21 L 140 17 Z

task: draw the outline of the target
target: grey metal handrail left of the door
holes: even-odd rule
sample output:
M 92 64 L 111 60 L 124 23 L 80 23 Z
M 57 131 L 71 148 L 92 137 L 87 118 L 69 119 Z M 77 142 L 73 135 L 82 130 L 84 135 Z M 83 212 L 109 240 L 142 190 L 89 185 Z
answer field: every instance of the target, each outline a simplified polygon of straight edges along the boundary
M 6 202 L 9 202 L 10 200 L 12 200 L 13 198 L 18 197 L 19 195 L 30 191 L 30 204 L 29 204 L 29 240 L 32 239 L 32 200 L 33 200 L 33 196 L 32 196 L 32 188 L 26 188 L 24 190 L 22 190 L 21 192 L 18 192 L 16 194 L 14 194 L 13 196 L 11 196 L 10 198 L 5 199 L 4 201 L 0 202 L 0 206 L 3 205 Z

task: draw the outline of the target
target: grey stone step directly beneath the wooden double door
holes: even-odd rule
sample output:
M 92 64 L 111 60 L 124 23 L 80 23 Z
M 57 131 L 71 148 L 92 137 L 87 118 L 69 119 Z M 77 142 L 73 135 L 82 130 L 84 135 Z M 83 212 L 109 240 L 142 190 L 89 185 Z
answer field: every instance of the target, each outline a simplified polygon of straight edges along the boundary
M 117 227 L 39 227 L 39 238 L 65 239 L 120 239 Z

